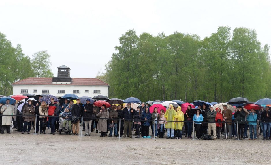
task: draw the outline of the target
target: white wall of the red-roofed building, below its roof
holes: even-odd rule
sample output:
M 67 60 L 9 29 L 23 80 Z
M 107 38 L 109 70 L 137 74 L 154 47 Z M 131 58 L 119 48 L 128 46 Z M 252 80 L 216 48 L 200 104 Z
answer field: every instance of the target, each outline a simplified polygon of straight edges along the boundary
M 82 96 L 97 96 L 100 94 L 94 94 L 93 90 L 101 90 L 101 95 L 108 96 L 108 86 L 25 86 L 25 85 L 17 85 L 13 86 L 13 95 L 22 95 L 21 89 L 28 89 L 28 93 L 31 94 L 43 94 L 42 90 L 49 89 L 49 94 L 53 96 L 63 96 L 64 94 L 57 93 L 57 90 L 65 90 L 65 94 L 73 93 L 73 90 L 80 90 L 80 94 L 76 94 L 78 97 Z M 33 90 L 36 89 L 37 93 L 34 93 Z M 89 93 L 85 93 L 85 90 L 89 90 Z

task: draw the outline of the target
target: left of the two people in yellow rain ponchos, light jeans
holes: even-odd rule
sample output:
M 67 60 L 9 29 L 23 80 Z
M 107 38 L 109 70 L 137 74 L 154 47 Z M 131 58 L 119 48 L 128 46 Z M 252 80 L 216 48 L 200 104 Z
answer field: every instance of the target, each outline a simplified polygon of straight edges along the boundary
M 167 139 L 175 139 L 174 138 L 174 128 L 175 128 L 175 121 L 177 117 L 177 112 L 173 109 L 173 105 L 170 104 L 168 110 L 165 112 L 165 120 L 170 120 L 165 122 L 165 128 L 167 128 Z

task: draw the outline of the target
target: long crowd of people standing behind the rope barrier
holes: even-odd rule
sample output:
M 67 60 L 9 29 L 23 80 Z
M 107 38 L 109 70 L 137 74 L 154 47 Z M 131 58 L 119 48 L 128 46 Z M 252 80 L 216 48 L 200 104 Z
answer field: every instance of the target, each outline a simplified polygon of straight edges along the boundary
M 192 107 L 188 105 L 187 110 L 183 113 L 180 106 L 174 107 L 170 104 L 166 111 L 158 112 L 157 108 L 154 108 L 151 113 L 145 103 L 133 109 L 130 103 L 127 104 L 127 107 L 122 105 L 112 105 L 109 108 L 106 108 L 106 105 L 98 107 L 90 104 L 89 99 L 84 105 L 80 103 L 80 99 L 77 99 L 75 104 L 72 100 L 65 99 L 62 106 L 54 98 L 51 98 L 50 101 L 50 104 L 39 101 L 33 105 L 33 101 L 28 100 L 28 104 L 19 111 L 17 110 L 18 102 L 11 105 L 10 100 L 7 99 L 6 104 L 0 104 L 1 134 L 4 131 L 11 133 L 10 128 L 13 125 L 12 129 L 16 129 L 15 131 L 22 134 L 29 134 L 31 129 L 35 129 L 40 134 L 46 134 L 46 129 L 50 127 L 48 134 L 54 135 L 58 131 L 59 133 L 66 132 L 69 135 L 79 135 L 79 126 L 83 118 L 85 136 L 91 136 L 91 132 L 96 129 L 96 133 L 100 132 L 101 137 L 120 135 L 123 138 L 132 138 L 132 136 L 135 138 L 150 138 L 151 136 L 164 138 L 166 135 L 167 139 L 182 139 L 184 136 L 191 139 L 194 122 L 196 139 L 202 139 L 204 134 L 211 135 L 213 140 L 222 137 L 223 139 L 232 139 L 232 137 L 236 139 L 237 134 L 240 140 L 256 140 L 261 134 L 263 134 L 262 140 L 271 139 L 269 106 L 261 108 L 261 110 L 246 110 L 242 106 L 238 106 L 232 112 L 227 109 L 227 104 L 223 105 L 223 109 L 214 108 L 212 105 L 207 108 L 203 104 L 197 107 L 195 113 L 190 113 Z M 12 114 L 18 116 L 5 116 Z M 37 120 L 35 115 L 38 116 Z M 150 127 L 151 135 L 149 135 Z

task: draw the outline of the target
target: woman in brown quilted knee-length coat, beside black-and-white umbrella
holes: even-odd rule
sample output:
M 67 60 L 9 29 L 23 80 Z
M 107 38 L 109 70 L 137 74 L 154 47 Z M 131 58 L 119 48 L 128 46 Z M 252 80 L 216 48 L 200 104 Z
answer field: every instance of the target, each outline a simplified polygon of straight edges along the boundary
M 28 125 L 27 134 L 29 134 L 30 129 L 31 129 L 31 123 L 32 121 L 35 120 L 35 116 L 34 116 L 35 106 L 32 104 L 32 102 L 33 102 L 32 100 L 28 100 L 28 104 L 25 105 L 24 110 L 23 110 L 24 129 L 23 129 L 22 134 L 25 133 L 24 131 L 26 130 L 27 125 Z

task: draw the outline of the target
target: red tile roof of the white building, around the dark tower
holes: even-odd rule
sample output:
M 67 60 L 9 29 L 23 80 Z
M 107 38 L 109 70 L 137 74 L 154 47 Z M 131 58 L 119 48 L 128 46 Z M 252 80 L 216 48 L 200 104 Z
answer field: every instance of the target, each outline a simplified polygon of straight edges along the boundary
M 96 78 L 72 78 L 71 84 L 52 84 L 52 78 L 29 77 L 12 85 L 77 85 L 77 86 L 109 86 L 109 84 Z

